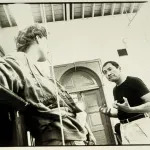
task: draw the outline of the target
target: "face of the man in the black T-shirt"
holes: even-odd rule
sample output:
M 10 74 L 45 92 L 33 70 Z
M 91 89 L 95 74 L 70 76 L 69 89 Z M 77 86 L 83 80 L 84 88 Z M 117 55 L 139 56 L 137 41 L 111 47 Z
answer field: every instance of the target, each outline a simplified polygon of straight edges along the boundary
M 121 69 L 120 67 L 116 68 L 111 63 L 108 63 L 103 67 L 103 73 L 109 81 L 117 82 L 120 79 Z

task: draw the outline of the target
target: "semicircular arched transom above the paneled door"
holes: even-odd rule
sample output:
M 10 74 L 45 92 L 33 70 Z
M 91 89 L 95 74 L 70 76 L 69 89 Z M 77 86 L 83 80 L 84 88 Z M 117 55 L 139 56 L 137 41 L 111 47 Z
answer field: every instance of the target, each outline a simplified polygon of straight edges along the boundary
M 70 93 L 97 89 L 101 86 L 100 79 L 96 77 L 96 74 L 85 67 L 67 70 L 60 78 L 60 82 Z

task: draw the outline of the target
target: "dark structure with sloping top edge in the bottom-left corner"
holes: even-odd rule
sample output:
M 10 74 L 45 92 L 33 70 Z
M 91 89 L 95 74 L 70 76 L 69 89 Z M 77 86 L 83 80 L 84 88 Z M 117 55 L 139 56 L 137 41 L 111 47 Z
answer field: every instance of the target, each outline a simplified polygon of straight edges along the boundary
M 0 85 L 0 146 L 34 146 L 23 112 L 28 103 Z

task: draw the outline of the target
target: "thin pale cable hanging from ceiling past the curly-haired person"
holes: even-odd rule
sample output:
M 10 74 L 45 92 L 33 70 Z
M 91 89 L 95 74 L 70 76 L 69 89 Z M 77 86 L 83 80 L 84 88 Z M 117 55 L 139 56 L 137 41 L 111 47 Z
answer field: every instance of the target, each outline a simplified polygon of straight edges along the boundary
M 45 26 L 45 29 L 46 29 L 46 32 L 47 32 L 47 39 L 48 39 L 49 33 L 48 33 L 48 28 L 47 28 L 47 20 L 46 20 L 45 7 L 44 7 L 44 4 L 41 4 L 41 5 L 42 5 L 42 11 L 43 11 L 43 17 L 44 17 L 44 19 L 43 19 L 44 20 L 44 26 Z M 61 115 L 61 109 L 60 109 L 60 99 L 59 99 L 59 95 L 58 95 L 57 82 L 56 82 L 55 73 L 54 73 L 54 66 L 52 64 L 52 54 L 50 56 L 51 56 L 51 62 L 48 59 L 48 56 L 47 56 L 46 59 L 47 59 L 48 63 L 51 66 L 52 78 L 54 80 L 55 92 L 56 92 L 56 99 L 57 99 L 57 105 L 58 105 L 58 110 L 59 110 L 59 119 L 60 119 L 60 124 L 61 124 L 62 144 L 65 145 L 63 122 L 62 122 L 62 115 Z

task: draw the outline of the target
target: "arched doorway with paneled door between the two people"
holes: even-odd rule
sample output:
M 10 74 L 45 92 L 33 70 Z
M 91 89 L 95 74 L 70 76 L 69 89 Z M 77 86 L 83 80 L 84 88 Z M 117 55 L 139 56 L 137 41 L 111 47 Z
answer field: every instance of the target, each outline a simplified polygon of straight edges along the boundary
M 87 112 L 87 122 L 97 145 L 112 144 L 110 121 L 99 112 L 99 106 L 104 104 L 102 86 L 96 81 L 93 73 L 85 68 L 70 69 L 63 74 L 60 82 L 74 101 Z

